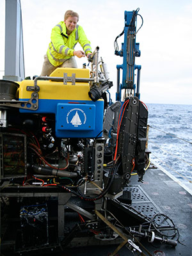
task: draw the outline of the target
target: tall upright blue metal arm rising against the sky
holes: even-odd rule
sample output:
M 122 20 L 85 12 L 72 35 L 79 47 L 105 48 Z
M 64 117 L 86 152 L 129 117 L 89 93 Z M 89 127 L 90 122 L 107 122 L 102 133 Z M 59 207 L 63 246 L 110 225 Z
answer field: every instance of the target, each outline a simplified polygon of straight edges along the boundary
M 135 65 L 135 57 L 140 57 L 140 44 L 136 43 L 136 17 L 138 10 L 127 12 L 125 11 L 125 27 L 124 27 L 124 43 L 122 49 L 115 51 L 115 54 L 124 58 L 123 65 L 116 65 L 117 68 L 117 91 L 116 100 L 121 100 L 122 89 L 136 89 L 134 84 L 134 71 L 138 70 L 137 92 L 134 95 L 140 97 L 140 70 L 141 66 Z M 120 69 L 122 69 L 122 84 L 120 85 Z

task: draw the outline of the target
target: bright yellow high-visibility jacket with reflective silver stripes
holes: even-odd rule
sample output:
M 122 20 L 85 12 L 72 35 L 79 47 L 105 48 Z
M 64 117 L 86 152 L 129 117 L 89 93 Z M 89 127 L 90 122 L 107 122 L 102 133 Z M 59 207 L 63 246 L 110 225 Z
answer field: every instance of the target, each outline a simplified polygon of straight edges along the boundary
M 54 26 L 51 31 L 51 43 L 47 50 L 47 57 L 51 64 L 54 67 L 58 67 L 65 60 L 74 56 L 74 47 L 77 42 L 81 44 L 85 54 L 92 52 L 90 41 L 87 39 L 81 26 L 77 25 L 70 35 L 67 35 L 64 21 Z

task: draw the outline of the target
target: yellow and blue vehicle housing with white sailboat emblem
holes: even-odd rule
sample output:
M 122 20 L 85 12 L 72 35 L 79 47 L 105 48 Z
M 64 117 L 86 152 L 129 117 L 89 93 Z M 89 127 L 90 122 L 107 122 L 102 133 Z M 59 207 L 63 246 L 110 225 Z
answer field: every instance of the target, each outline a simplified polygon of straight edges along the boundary
M 90 99 L 90 83 L 84 82 L 89 78 L 90 72 L 86 68 L 57 68 L 50 77 L 20 82 L 20 113 L 54 114 L 56 137 L 102 136 L 104 101 Z

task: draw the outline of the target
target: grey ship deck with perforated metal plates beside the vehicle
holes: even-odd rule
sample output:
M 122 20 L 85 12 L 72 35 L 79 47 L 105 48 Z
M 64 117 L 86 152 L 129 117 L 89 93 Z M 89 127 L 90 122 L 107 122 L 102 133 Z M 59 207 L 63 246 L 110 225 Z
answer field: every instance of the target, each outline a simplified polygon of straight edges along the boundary
M 144 182 L 137 181 L 137 175 L 132 176 L 130 188 L 132 189 L 132 206 L 140 205 L 144 214 L 161 212 L 166 214 L 179 231 L 177 246 L 168 244 L 148 243 L 141 239 L 140 243 L 153 256 L 191 256 L 192 255 L 192 195 L 190 189 L 186 191 L 180 182 L 173 180 L 163 170 L 154 168 L 152 164 L 144 175 Z M 190 184 L 191 186 L 192 184 Z M 192 190 L 191 190 L 192 191 Z M 137 195 L 136 195 L 137 194 Z M 136 195 L 136 196 L 134 196 Z M 150 212 L 149 212 L 150 214 Z M 67 248 L 61 256 L 108 256 L 118 245 L 86 246 L 81 248 Z M 139 246 L 143 255 L 150 255 Z M 140 255 L 133 254 L 126 246 L 122 247 L 116 256 Z

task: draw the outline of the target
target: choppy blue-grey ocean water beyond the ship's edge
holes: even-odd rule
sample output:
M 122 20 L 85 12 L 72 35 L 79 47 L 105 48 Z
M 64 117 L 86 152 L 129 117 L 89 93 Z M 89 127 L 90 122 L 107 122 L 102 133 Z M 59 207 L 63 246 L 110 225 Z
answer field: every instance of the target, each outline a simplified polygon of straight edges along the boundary
M 151 161 L 192 189 L 192 105 L 147 104 Z

